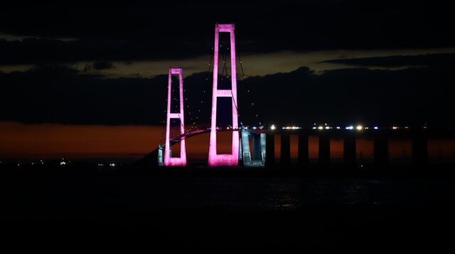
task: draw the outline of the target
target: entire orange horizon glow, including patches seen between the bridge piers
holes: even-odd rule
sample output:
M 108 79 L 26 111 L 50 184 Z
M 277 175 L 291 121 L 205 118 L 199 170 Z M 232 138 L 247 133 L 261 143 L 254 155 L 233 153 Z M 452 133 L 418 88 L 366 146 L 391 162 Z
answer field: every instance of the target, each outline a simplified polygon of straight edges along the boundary
M 161 126 L 22 124 L 0 121 L 0 158 L 142 158 L 158 147 L 161 131 Z M 220 149 L 230 150 L 231 136 L 228 133 L 220 134 L 223 137 L 218 143 Z M 209 133 L 188 138 L 187 157 L 207 159 L 209 138 Z M 318 158 L 318 142 L 317 136 L 309 137 L 309 158 Z M 161 143 L 164 143 L 164 137 Z M 429 158 L 439 158 L 441 153 L 444 157 L 455 157 L 453 144 L 454 140 L 429 140 Z M 342 146 L 342 140 L 331 140 L 332 158 L 342 158 Z M 412 155 L 410 140 L 390 140 L 389 148 L 390 158 Z M 280 136 L 276 135 L 276 158 L 279 158 L 279 150 Z M 291 158 L 296 159 L 297 150 L 297 138 L 291 136 Z M 365 159 L 373 158 L 373 140 L 358 139 L 357 154 Z

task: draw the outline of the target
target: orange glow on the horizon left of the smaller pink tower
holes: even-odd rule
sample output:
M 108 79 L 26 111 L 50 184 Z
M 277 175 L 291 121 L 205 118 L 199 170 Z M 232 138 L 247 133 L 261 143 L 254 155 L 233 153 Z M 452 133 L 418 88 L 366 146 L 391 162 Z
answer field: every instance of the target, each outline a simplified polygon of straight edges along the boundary
M 140 158 L 154 150 L 161 126 L 85 126 L 0 122 L 4 158 Z

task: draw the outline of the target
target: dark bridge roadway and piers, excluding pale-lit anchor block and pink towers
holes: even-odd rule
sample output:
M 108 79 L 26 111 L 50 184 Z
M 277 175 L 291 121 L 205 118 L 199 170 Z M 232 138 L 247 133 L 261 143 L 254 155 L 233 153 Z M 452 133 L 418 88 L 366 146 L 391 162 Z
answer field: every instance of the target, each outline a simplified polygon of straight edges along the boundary
M 412 163 L 418 165 L 427 165 L 428 163 L 428 140 L 429 139 L 451 139 L 455 138 L 454 129 L 432 129 L 432 128 L 400 128 L 392 129 L 363 129 L 346 130 L 346 129 L 218 129 L 217 132 L 227 131 L 247 131 L 249 136 L 257 136 L 260 134 L 265 135 L 265 153 L 263 163 L 267 166 L 275 164 L 275 144 L 274 136 L 279 135 L 280 138 L 280 165 L 288 165 L 291 163 L 290 157 L 290 136 L 298 136 L 298 161 L 301 165 L 309 163 L 309 136 L 319 137 L 319 164 L 330 165 L 330 139 L 343 139 L 343 162 L 346 165 L 355 165 L 356 152 L 355 140 L 357 138 L 373 140 L 373 158 L 374 163 L 378 167 L 385 167 L 389 162 L 388 154 L 388 140 L 411 140 L 412 141 Z M 193 136 L 210 133 L 210 129 L 191 131 L 181 136 L 177 136 L 171 140 L 171 145 L 180 142 L 183 139 L 191 138 Z M 260 146 L 259 146 L 260 148 Z M 158 150 L 158 149 L 157 149 Z M 157 155 L 157 150 L 152 152 Z M 255 149 L 257 150 L 257 149 Z M 249 151 L 247 151 L 249 152 Z M 251 155 L 251 158 L 258 158 L 257 155 Z M 260 156 L 259 156 L 260 157 Z M 241 160 L 241 158 L 240 158 Z

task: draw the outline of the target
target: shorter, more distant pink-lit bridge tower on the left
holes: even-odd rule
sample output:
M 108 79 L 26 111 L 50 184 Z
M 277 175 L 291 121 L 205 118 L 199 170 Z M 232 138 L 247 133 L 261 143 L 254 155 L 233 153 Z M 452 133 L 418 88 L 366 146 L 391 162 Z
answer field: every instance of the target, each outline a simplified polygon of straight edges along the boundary
M 171 78 L 172 74 L 178 74 L 178 82 L 179 86 L 178 89 L 180 91 L 180 109 L 178 109 L 178 113 L 171 113 Z M 168 109 L 167 109 L 167 117 L 166 117 L 166 144 L 164 147 L 164 165 L 165 166 L 186 166 L 186 149 L 185 149 L 185 140 L 181 140 L 180 144 L 180 158 L 172 158 L 171 157 L 171 142 L 170 138 L 170 131 L 171 131 L 171 119 L 176 118 L 180 120 L 180 133 L 185 133 L 185 121 L 183 117 L 183 79 L 182 79 L 182 69 L 181 68 L 169 68 L 169 75 L 168 75 Z

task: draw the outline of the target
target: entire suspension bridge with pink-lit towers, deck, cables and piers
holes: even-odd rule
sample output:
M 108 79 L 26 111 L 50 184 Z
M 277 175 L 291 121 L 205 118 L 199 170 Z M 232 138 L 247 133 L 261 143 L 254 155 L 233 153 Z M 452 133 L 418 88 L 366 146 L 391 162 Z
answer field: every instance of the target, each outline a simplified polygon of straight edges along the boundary
M 220 56 L 220 33 L 229 33 L 230 47 L 230 74 L 228 74 L 226 56 L 223 57 L 222 73 L 218 73 L 218 62 Z M 239 57 L 240 58 L 240 57 Z M 166 109 L 166 137 L 164 144 L 159 145 L 155 152 L 151 153 L 156 156 L 157 164 L 160 166 L 178 166 L 187 165 L 186 158 L 186 139 L 193 136 L 210 133 L 208 162 L 209 167 L 218 166 L 239 166 L 243 167 L 264 167 L 275 165 L 275 136 L 280 136 L 280 153 L 279 164 L 290 165 L 290 136 L 298 136 L 298 164 L 306 166 L 309 164 L 309 136 L 319 137 L 319 165 L 329 165 L 331 162 L 331 138 L 343 140 L 343 162 L 346 165 L 356 164 L 356 138 L 370 138 L 373 140 L 373 158 L 378 167 L 386 167 L 389 155 L 387 140 L 391 138 L 410 138 L 412 140 L 412 162 L 416 165 L 426 165 L 428 162 L 428 139 L 429 138 L 454 138 L 454 131 L 430 131 L 428 129 L 418 130 L 378 130 L 372 128 L 363 130 L 361 133 L 353 131 L 352 128 L 346 129 L 301 129 L 301 128 L 244 128 L 239 125 L 239 104 L 237 101 L 237 70 L 236 70 L 236 52 L 235 52 L 235 26 L 234 24 L 215 24 L 215 43 L 213 47 L 213 56 L 210 59 L 208 72 L 213 60 L 213 83 L 212 83 L 212 105 L 210 127 L 195 129 L 194 123 L 191 131 L 185 128 L 185 112 L 183 98 L 183 70 L 182 68 L 169 68 L 168 70 L 168 95 Z M 240 60 L 240 59 L 239 59 Z M 242 77 L 245 79 L 242 61 L 240 60 L 240 69 Z M 178 75 L 178 98 L 172 98 L 172 77 Z M 220 80 L 225 79 L 230 83 L 230 88 L 220 88 Z M 250 89 L 247 89 L 250 92 Z M 203 91 L 205 94 L 205 90 Z M 220 117 L 218 109 L 218 99 L 229 99 L 232 111 L 230 112 L 230 124 L 227 128 L 219 128 L 217 119 Z M 175 109 L 171 107 L 171 101 L 178 101 Z M 201 101 L 202 102 L 202 101 Z M 253 102 L 251 102 L 254 105 Z M 188 107 L 188 106 L 187 106 Z M 200 110 L 199 110 L 200 111 Z M 191 113 L 190 113 L 191 114 Z M 257 116 L 257 115 L 256 115 Z M 198 118 L 198 117 L 196 117 Z M 193 120 L 193 117 L 191 117 Z M 171 137 L 171 122 L 179 122 L 179 133 L 176 137 Z M 261 123 L 259 122 L 259 125 Z M 230 153 L 220 154 L 217 152 L 217 135 L 220 132 L 232 133 Z M 253 149 L 250 149 L 250 138 L 252 139 Z M 180 144 L 180 155 L 173 156 L 172 146 Z

